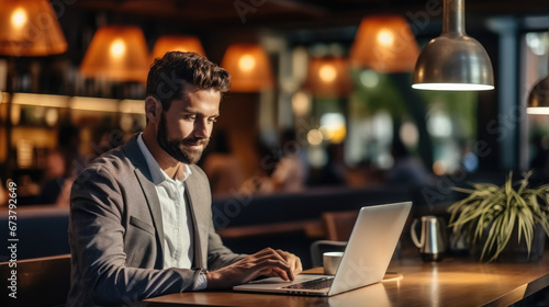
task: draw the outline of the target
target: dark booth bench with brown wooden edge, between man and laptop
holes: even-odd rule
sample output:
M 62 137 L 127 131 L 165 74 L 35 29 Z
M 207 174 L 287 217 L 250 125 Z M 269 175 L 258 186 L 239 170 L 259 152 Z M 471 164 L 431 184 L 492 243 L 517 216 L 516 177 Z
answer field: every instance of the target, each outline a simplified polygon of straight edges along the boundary
M 349 211 L 358 212 L 362 206 L 405 201 L 433 212 L 435 207 L 425 206 L 421 189 L 323 187 L 301 193 L 217 197 L 213 201 L 213 219 L 223 241 L 235 252 L 253 253 L 271 247 L 295 253 L 304 268 L 312 268 L 311 245 L 329 238 L 326 223 L 329 214 L 323 218 L 325 213 L 338 216 Z M 345 231 L 350 234 L 352 218 L 349 224 L 350 228 Z

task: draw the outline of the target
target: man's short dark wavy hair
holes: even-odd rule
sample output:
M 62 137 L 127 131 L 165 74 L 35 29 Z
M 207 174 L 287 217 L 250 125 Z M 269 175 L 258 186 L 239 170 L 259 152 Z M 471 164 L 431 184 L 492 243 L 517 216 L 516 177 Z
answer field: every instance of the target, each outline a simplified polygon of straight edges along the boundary
M 231 86 L 231 75 L 195 53 L 169 52 L 150 66 L 146 96 L 160 101 L 166 111 L 172 100 L 182 98 L 186 83 L 223 95 Z

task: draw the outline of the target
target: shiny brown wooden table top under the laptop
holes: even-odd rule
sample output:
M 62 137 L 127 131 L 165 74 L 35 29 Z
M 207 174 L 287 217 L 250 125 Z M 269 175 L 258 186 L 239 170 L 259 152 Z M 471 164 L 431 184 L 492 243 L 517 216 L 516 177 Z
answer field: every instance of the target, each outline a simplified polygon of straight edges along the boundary
M 315 273 L 321 270 L 309 270 Z M 479 263 L 448 258 L 393 261 L 389 280 L 332 297 L 225 292 L 178 293 L 148 299 L 149 306 L 508 306 L 549 286 L 549 254 L 535 263 Z

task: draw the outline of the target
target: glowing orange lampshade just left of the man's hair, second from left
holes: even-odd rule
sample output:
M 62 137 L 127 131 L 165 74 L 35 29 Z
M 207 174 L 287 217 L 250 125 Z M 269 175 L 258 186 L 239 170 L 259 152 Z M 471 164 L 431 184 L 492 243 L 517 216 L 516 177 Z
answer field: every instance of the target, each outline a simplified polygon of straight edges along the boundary
M 145 81 L 149 56 L 145 36 L 136 26 L 104 26 L 86 50 L 80 73 L 114 81 Z

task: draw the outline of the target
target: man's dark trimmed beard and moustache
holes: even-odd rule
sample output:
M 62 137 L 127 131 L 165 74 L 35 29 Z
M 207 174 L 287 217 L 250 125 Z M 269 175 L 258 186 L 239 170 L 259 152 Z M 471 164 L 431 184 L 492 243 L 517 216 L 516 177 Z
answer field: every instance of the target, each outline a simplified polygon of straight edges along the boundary
M 169 139 L 168 138 L 168 124 L 166 122 L 166 114 L 163 112 L 160 115 L 160 125 L 158 127 L 158 145 L 164 151 L 168 152 L 173 159 L 186 163 L 194 164 L 202 157 L 202 151 L 206 148 L 209 139 L 202 138 L 186 138 L 186 139 Z M 188 146 L 203 145 L 202 149 L 190 149 Z

